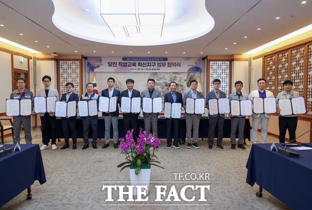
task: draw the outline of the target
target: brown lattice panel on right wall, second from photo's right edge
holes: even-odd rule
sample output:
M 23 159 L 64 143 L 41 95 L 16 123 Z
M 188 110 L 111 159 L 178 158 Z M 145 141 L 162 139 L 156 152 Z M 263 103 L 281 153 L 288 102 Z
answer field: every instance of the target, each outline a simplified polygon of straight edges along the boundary
M 304 47 L 300 47 L 291 51 L 291 80 L 293 82 L 292 89 L 303 95 L 304 82 Z

